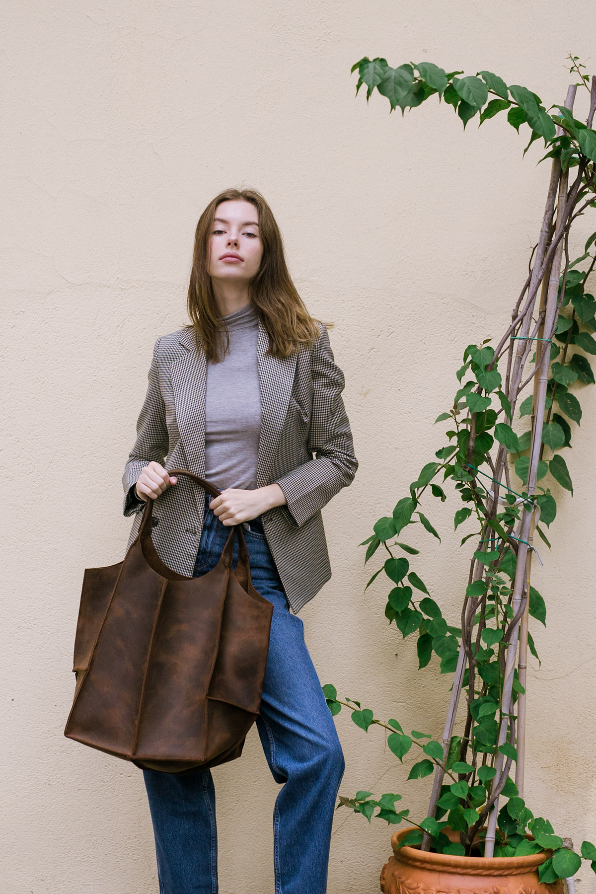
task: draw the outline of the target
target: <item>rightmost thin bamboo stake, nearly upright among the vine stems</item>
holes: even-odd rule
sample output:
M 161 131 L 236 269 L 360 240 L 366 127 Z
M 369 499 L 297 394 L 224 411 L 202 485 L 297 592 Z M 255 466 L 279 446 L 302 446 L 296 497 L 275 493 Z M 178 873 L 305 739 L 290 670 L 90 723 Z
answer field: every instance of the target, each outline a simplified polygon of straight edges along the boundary
M 575 84 L 570 84 L 567 89 L 567 97 L 565 100 L 565 106 L 570 111 L 573 109 L 575 103 L 575 93 L 577 87 Z M 561 133 L 560 127 L 557 128 L 557 135 Z M 560 268 L 560 267 L 559 267 Z M 542 280 L 542 290 L 541 290 L 541 304 L 540 304 L 540 313 L 545 311 L 546 305 L 546 297 L 548 293 L 548 286 L 550 280 L 545 276 Z M 538 330 L 538 339 L 542 339 L 544 337 L 544 319 L 542 319 L 540 328 Z M 547 351 L 546 344 L 548 342 L 536 341 L 536 361 L 535 366 L 538 368 L 541 366 L 542 354 Z M 549 358 L 550 358 L 550 345 L 548 348 Z M 547 363 L 548 369 L 548 363 Z M 539 379 L 538 376 L 534 376 L 534 386 L 533 386 L 533 408 L 538 406 L 538 386 Z M 535 420 L 535 409 L 533 412 L 533 423 Z M 533 441 L 535 439 L 535 426 L 533 424 Z M 528 537 L 528 543 L 533 544 L 533 534 L 534 529 L 536 527 L 536 513 L 533 513 L 532 523 L 530 526 L 530 536 Z M 519 630 L 519 658 L 517 662 L 517 679 L 520 685 L 524 688 L 524 692 L 520 692 L 517 696 L 517 761 L 516 761 L 516 786 L 519 792 L 519 797 L 524 797 L 524 781 L 525 781 L 525 709 L 526 709 L 526 687 L 527 687 L 527 660 L 528 660 L 528 618 L 529 618 L 529 609 L 530 609 L 530 575 L 532 570 L 532 550 L 528 550 L 527 558 L 526 558 L 526 581 L 527 581 L 527 593 L 526 593 L 526 603 L 525 610 L 522 616 L 520 630 Z

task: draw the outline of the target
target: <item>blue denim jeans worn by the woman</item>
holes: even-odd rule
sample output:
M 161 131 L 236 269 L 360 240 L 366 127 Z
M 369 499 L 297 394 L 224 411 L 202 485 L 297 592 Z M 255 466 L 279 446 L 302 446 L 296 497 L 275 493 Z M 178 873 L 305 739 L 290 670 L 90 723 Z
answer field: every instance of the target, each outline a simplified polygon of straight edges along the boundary
M 231 528 L 207 509 L 193 577 L 214 568 Z M 332 715 L 290 614 L 260 519 L 244 535 L 256 590 L 273 603 L 261 712 L 256 719 L 273 779 L 283 785 L 273 811 L 275 894 L 324 894 L 332 817 L 344 771 Z M 238 557 L 235 546 L 234 561 Z M 216 894 L 215 790 L 209 770 L 178 776 L 144 771 L 160 894 Z

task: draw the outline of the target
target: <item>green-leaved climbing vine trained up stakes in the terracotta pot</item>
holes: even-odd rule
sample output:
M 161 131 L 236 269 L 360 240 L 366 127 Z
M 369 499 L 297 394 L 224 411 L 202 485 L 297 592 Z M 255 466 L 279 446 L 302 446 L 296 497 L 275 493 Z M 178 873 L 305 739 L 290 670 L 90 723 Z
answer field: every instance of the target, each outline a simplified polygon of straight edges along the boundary
M 565 105 L 549 110 L 531 90 L 508 86 L 491 72 L 460 78 L 464 72 L 445 72 L 432 63 L 391 68 L 382 58 L 361 59 L 352 68 L 358 72 L 357 93 L 365 86 L 368 100 L 376 89 L 389 99 L 391 111 L 399 106 L 403 114 L 436 95 L 453 107 L 464 128 L 476 115 L 482 125 L 507 112 L 516 131 L 529 128 L 525 151 L 543 140 L 542 160 L 551 160 L 551 174 L 540 238 L 511 323 L 498 342 L 486 338 L 466 346 L 453 402 L 436 419 L 445 424 L 442 444 L 361 544 L 365 562 L 383 553 L 366 586 L 383 576 L 389 586 L 385 618 L 403 639 L 416 638 L 419 668 L 435 654 L 441 674 L 455 675 L 443 736 L 405 732 L 399 721 L 382 722 L 359 702 L 339 698 L 336 687 L 323 687 L 333 714 L 345 707 L 361 730 L 384 729 L 400 761 L 413 747 L 419 749 L 408 779 L 433 774 L 428 815 L 414 823 L 416 831 L 401 846 L 420 844 L 459 855 L 480 848 L 485 856 L 547 849 L 550 856 L 540 866 L 546 883 L 573 875 L 581 857 L 592 861 L 596 872 L 592 843 L 583 842 L 581 857 L 563 847 L 550 822 L 534 817 L 523 797 L 526 650 L 538 658 L 528 616 L 546 623 L 544 599 L 530 584 L 532 556 L 540 559 L 539 542 L 541 550 L 550 549 L 558 494 L 573 495 L 565 455 L 581 424 L 583 389 L 594 384 L 590 357 L 596 355 L 596 300 L 586 291 L 596 266 L 596 232 L 580 257 L 569 256 L 575 220 L 596 207 L 596 78 L 590 81 L 577 57 L 569 61 L 579 83 L 569 89 Z M 585 122 L 573 114 L 580 86 L 590 95 Z M 431 520 L 432 502 L 448 499 L 447 485 L 458 497 L 454 528 L 464 533 L 461 545 L 472 552 L 459 626 L 449 624 L 419 576 L 419 550 L 404 542 L 412 525 L 441 540 Z M 460 700 L 463 734 L 455 735 Z M 398 794 L 375 798 L 358 791 L 340 797 L 340 805 L 369 822 L 373 816 L 413 822 L 407 809 L 399 809 L 400 800 Z M 449 839 L 447 826 L 459 832 L 459 841 Z

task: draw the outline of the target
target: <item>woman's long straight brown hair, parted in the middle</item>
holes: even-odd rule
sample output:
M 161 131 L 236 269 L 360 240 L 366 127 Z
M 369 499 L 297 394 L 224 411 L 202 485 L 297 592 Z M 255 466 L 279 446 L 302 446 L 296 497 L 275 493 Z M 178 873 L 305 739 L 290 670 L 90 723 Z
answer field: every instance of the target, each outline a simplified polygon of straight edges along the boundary
M 256 190 L 224 190 L 209 202 L 198 219 L 187 300 L 192 328 L 207 359 L 221 360 L 228 350 L 229 338 L 219 316 L 208 272 L 210 237 L 215 208 L 222 202 L 238 199 L 256 207 L 263 242 L 261 266 L 248 287 L 248 295 L 269 335 L 268 352 L 275 357 L 289 357 L 301 345 L 315 342 L 320 330 L 291 281 L 273 211 Z

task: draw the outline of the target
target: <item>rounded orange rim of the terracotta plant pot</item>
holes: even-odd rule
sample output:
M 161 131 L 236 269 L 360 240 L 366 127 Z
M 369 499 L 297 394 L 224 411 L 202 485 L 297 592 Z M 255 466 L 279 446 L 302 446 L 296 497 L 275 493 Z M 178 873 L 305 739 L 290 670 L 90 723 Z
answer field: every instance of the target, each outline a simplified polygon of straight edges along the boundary
M 398 848 L 399 841 L 408 832 L 416 831 L 416 826 L 396 831 L 391 836 L 391 848 L 396 860 L 421 869 L 433 869 L 442 873 L 459 873 L 463 875 L 518 875 L 537 869 L 548 855 L 528 854 L 527 856 L 457 856 L 455 854 L 431 854 L 418 848 L 404 845 Z

